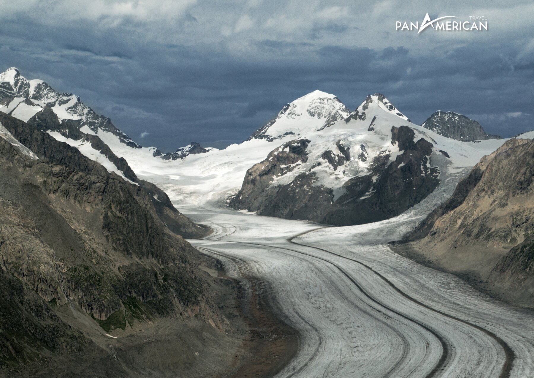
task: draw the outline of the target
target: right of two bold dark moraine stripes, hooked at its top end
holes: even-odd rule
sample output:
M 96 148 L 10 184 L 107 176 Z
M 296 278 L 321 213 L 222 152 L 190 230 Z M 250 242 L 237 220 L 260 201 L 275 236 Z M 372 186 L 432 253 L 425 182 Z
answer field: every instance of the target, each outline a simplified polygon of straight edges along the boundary
M 288 242 L 290 243 L 293 243 L 293 244 L 296 244 L 296 245 L 301 245 L 301 246 L 305 246 L 305 247 L 308 247 L 308 248 L 313 248 L 313 249 L 317 249 L 319 251 L 323 251 L 323 252 L 326 252 L 326 253 L 329 253 L 329 254 L 333 254 L 334 256 L 337 256 L 337 257 L 341 257 L 343 259 L 347 259 L 347 260 L 350 260 L 350 261 L 354 261 L 355 263 L 358 263 L 362 266 L 364 266 L 365 268 L 369 269 L 371 272 L 375 273 L 376 275 L 378 275 L 383 281 L 385 281 L 391 288 L 395 289 L 395 291 L 397 291 L 400 295 L 402 295 L 403 297 L 405 297 L 406 299 L 409 299 L 411 300 L 411 302 L 415 303 L 415 304 L 418 304 L 422 307 L 425 307 L 425 308 L 428 308 L 428 310 L 430 311 L 434 311 L 435 313 L 438 313 L 440 315 L 443 315 L 444 317 L 447 317 L 449 319 L 453 319 L 453 320 L 456 320 L 456 321 L 459 321 L 461 323 L 464 323 L 468 326 L 471 326 L 471 327 L 474 327 L 480 331 L 482 331 L 483 333 L 485 333 L 486 335 L 490 336 L 491 338 L 493 338 L 493 340 L 495 340 L 501 347 L 502 347 L 502 350 L 504 351 L 504 354 L 505 354 L 505 361 L 504 361 L 504 364 L 502 365 L 502 369 L 501 369 L 501 373 L 499 375 L 499 377 L 509 377 L 511 375 L 511 372 L 512 372 L 512 366 L 514 364 L 514 360 L 515 360 L 515 353 L 513 351 L 512 348 L 510 348 L 510 346 L 504 341 L 502 340 L 502 338 L 500 338 L 499 336 L 497 336 L 496 334 L 494 334 L 493 332 L 485 329 L 485 328 L 482 328 L 480 326 L 477 326 L 476 324 L 473 324 L 471 322 L 468 322 L 467 320 L 463 320 L 463 319 L 460 319 L 460 318 L 457 318 L 457 317 L 454 317 L 453 315 L 450 315 L 450 314 L 447 314 L 443 311 L 439 311 L 439 310 L 436 310 L 435 308 L 433 307 L 430 307 L 422 302 L 419 302 L 419 300 L 415 299 L 415 298 L 412 298 L 411 296 L 407 295 L 404 291 L 400 290 L 399 288 L 397 288 L 391 281 L 389 281 L 386 277 L 384 277 L 382 274 L 380 274 L 379 272 L 375 271 L 373 268 L 371 268 L 370 266 L 362 263 L 361 261 L 358 261 L 358 260 L 355 260 L 355 259 L 352 259 L 350 257 L 346 257 L 346 256 L 342 256 L 341 254 L 337 254 L 337 253 L 334 253 L 334 252 L 331 252 L 331 251 L 327 251 L 326 249 L 323 249 L 323 248 L 319 248 L 319 247 L 316 247 L 316 246 L 311 246 L 311 245 L 307 245 L 307 244 L 302 244 L 302 243 L 297 243 L 295 242 L 293 239 L 296 238 L 296 237 L 299 237 L 299 236 L 302 236 L 304 234 L 308 234 L 312 231 L 316 231 L 318 229 L 321 229 L 321 228 L 325 228 L 325 227 L 319 227 L 319 228 L 316 228 L 316 229 L 313 229 L 313 230 L 309 230 L 309 231 L 306 231 L 306 232 L 303 232 L 303 233 L 300 233 L 298 235 L 295 235 L 293 237 L 290 237 L 287 239 Z M 442 345 L 443 345 L 443 342 L 442 342 Z M 439 360 L 438 362 L 438 365 L 440 364 L 444 364 L 445 362 L 445 359 L 442 358 Z M 434 370 L 432 372 L 430 372 L 429 376 L 433 376 L 436 374 L 436 372 L 438 371 L 438 369 L 441 369 L 441 366 L 437 366 L 434 368 Z

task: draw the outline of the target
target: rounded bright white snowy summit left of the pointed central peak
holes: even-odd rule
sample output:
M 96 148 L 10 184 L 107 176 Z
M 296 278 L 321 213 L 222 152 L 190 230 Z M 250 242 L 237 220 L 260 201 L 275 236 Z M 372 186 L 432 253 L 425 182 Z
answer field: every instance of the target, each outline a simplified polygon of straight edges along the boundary
M 286 104 L 277 117 L 257 130 L 250 139 L 275 140 L 303 136 L 345 119 L 349 109 L 336 96 L 315 90 Z

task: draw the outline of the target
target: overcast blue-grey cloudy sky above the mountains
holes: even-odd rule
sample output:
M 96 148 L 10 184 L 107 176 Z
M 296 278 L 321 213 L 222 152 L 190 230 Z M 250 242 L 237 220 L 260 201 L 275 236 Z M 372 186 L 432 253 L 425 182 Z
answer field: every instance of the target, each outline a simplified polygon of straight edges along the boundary
M 534 129 L 530 1 L 0 0 L 0 71 L 72 92 L 144 146 L 241 142 L 315 89 L 381 92 L 413 122 L 451 110 Z M 410 4 L 410 5 L 408 5 Z M 485 16 L 488 31 L 396 31 Z

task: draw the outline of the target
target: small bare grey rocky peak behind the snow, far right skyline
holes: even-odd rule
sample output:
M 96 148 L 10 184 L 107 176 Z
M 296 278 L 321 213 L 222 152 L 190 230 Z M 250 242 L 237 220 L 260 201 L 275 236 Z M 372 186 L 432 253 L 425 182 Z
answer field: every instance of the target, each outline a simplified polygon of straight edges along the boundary
M 465 115 L 441 110 L 430 115 L 421 126 L 457 141 L 470 142 L 501 138 L 498 135 L 487 134 L 481 124 Z

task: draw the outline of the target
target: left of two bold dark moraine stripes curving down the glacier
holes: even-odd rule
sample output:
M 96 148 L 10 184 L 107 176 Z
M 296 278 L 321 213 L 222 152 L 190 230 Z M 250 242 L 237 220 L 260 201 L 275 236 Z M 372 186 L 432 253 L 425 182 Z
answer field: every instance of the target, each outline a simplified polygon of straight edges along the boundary
M 321 227 L 322 228 L 322 227 Z M 313 230 L 311 230 L 313 231 Z M 300 236 L 300 235 L 303 235 L 305 233 L 302 233 L 302 234 L 299 234 L 299 235 L 295 235 L 294 237 L 297 237 L 297 236 Z M 341 268 L 339 265 L 335 264 L 335 263 L 332 263 L 332 261 L 329 261 L 327 259 L 324 259 L 322 257 L 318 257 L 318 256 L 314 256 L 313 254 L 309 254 L 309 253 L 306 253 L 306 252 L 302 252 L 302 251 L 297 251 L 297 250 L 294 250 L 294 249 L 290 249 L 290 248 L 284 248 L 284 247 L 281 247 L 281 246 L 273 246 L 273 245 L 267 245 L 267 244 L 261 244 L 261 243 L 250 243 L 250 242 L 237 242 L 237 241 L 225 241 L 225 240 L 219 240 L 219 239 L 210 239 L 210 241 L 214 241 L 214 242 L 223 242 L 223 243 L 238 243 L 238 244 L 247 244 L 247 245 L 257 245 L 257 246 L 262 246 L 262 247 L 265 247 L 265 248 L 276 248 L 276 249 L 282 249 L 282 250 L 286 250 L 286 251 L 292 251 L 292 252 L 295 252 L 295 253 L 300 253 L 300 254 L 304 254 L 305 256 L 309 256 L 311 258 L 314 258 L 314 259 L 318 259 L 318 260 L 322 260 L 322 261 L 325 261 L 325 263 L 327 264 L 330 264 L 332 266 L 334 266 L 337 270 L 339 270 L 345 277 L 347 277 L 347 279 L 352 282 L 356 288 L 362 292 L 363 295 L 365 295 L 368 299 L 372 300 L 374 303 L 378 304 L 379 306 L 383 307 L 383 308 L 386 308 L 387 310 L 391 311 L 392 313 L 394 314 L 397 314 L 399 317 L 401 318 L 404 318 L 412 323 L 415 323 L 416 325 L 418 325 L 419 327 L 427 330 L 429 333 L 431 333 L 432 335 L 434 335 L 434 337 L 436 337 L 436 339 L 439 341 L 439 343 L 441 344 L 442 346 L 442 354 L 441 354 L 441 357 L 439 358 L 436 366 L 434 367 L 434 369 L 427 375 L 427 377 L 433 377 L 437 374 L 437 372 L 439 372 L 442 367 L 445 365 L 445 361 L 449 358 L 450 356 L 450 352 L 449 352 L 449 346 L 447 345 L 447 343 L 445 342 L 444 338 L 439 335 L 436 331 L 434 331 L 433 329 L 425 326 L 424 324 L 422 324 L 421 322 L 415 320 L 415 319 L 412 319 L 410 317 L 408 317 L 407 315 L 404 315 L 396 310 L 394 310 L 393 308 L 383 304 L 382 302 L 380 302 L 380 300 L 374 298 L 371 294 L 369 294 L 362 286 L 360 286 L 360 284 L 358 282 L 356 282 L 356 280 L 354 280 L 354 278 L 352 278 L 347 272 L 345 272 L 343 270 L 343 268 Z M 293 244 L 297 244 L 297 245 L 300 245 L 299 243 L 296 243 L 296 242 L 293 242 L 291 240 L 288 239 L 289 242 L 293 243 Z M 308 245 L 303 245 L 303 246 L 306 246 L 309 248 Z M 203 248 L 203 249 L 206 249 L 204 247 L 200 247 L 200 248 Z M 326 251 L 328 252 L 328 251 Z M 215 252 L 214 252 L 215 253 Z M 331 253 L 331 252 L 328 252 L 328 253 Z M 226 256 L 227 257 L 227 256 Z M 391 284 L 391 283 L 390 283 Z M 415 300 L 415 299 L 414 299 Z M 372 306 L 371 306 L 372 307 Z M 374 308 L 374 307 L 372 307 Z M 374 308 L 376 311 L 379 311 L 377 310 L 376 308 Z M 402 336 L 400 336 L 401 338 L 403 338 Z M 403 342 L 405 342 L 405 340 L 403 340 Z M 403 353 L 403 357 L 400 359 L 402 360 L 403 358 L 405 357 L 405 353 Z M 311 358 L 309 359 L 311 360 Z M 391 367 L 389 373 L 391 373 L 396 366 L 398 366 L 398 364 L 400 363 L 400 360 L 399 362 L 397 362 L 397 364 L 395 364 L 394 366 Z M 297 369 L 296 372 L 293 372 L 292 374 L 290 374 L 289 376 L 293 376 L 295 374 L 297 374 L 299 371 L 301 371 L 302 368 L 305 367 L 306 364 L 304 364 L 303 366 L 301 366 L 299 369 Z

